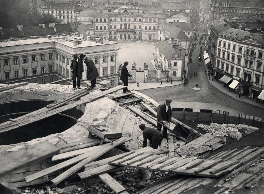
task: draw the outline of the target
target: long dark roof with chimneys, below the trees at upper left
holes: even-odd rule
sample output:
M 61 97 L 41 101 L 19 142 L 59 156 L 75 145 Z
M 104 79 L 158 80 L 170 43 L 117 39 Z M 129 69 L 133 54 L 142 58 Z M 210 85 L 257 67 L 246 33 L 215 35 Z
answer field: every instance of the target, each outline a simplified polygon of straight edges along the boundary
M 72 27 L 70 24 L 55 24 L 56 32 L 54 28 L 49 28 L 49 25 L 45 25 L 45 28 L 42 26 L 23 26 L 22 32 L 19 31 L 17 27 L 7 27 L 3 28 L 4 34 L 0 34 L 0 39 L 6 39 L 10 37 L 29 37 L 29 36 L 45 36 L 45 35 L 52 35 L 58 34 L 62 32 L 69 32 L 72 31 Z

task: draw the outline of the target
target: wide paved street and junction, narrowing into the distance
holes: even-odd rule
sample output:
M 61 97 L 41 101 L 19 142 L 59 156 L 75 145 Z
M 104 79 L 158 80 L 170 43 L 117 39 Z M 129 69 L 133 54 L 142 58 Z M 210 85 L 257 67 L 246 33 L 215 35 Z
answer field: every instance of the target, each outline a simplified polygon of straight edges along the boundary
M 205 28 L 206 28 L 205 25 L 198 27 L 197 37 L 198 37 L 198 33 L 200 35 L 204 33 L 203 29 Z M 204 46 L 203 46 L 203 50 L 204 50 Z M 156 100 L 158 103 L 164 102 L 165 98 L 168 97 L 173 99 L 174 101 L 215 103 L 221 106 L 231 108 L 235 111 L 244 114 L 264 117 L 264 111 L 262 108 L 231 98 L 230 96 L 223 94 L 221 91 L 217 90 L 211 84 L 209 84 L 208 78 L 205 74 L 205 68 L 203 62 L 200 62 L 201 66 L 199 67 L 199 62 L 198 62 L 199 52 L 200 52 L 200 45 L 197 44 L 196 49 L 194 49 L 191 57 L 192 62 L 188 66 L 189 72 L 187 77 L 189 79 L 189 83 L 187 85 L 184 86 L 183 84 L 181 84 L 172 87 L 140 90 L 140 92 L 148 95 L 152 99 Z M 198 73 L 198 76 L 194 77 L 193 73 L 196 71 Z M 190 78 L 191 74 L 192 77 Z M 215 82 L 215 81 L 210 80 L 209 82 Z M 193 87 L 196 87 L 196 83 L 199 84 L 198 87 L 201 88 L 200 91 L 192 90 Z

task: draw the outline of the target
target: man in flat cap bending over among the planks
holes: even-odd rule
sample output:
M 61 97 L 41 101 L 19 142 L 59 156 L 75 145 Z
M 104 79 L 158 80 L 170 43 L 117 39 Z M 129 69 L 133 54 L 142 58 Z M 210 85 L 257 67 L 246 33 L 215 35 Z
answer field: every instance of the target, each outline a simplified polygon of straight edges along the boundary
M 147 147 L 147 140 L 149 140 L 150 147 L 157 149 L 163 139 L 162 133 L 154 128 L 146 127 L 145 124 L 140 124 L 139 128 L 143 133 L 143 148 Z

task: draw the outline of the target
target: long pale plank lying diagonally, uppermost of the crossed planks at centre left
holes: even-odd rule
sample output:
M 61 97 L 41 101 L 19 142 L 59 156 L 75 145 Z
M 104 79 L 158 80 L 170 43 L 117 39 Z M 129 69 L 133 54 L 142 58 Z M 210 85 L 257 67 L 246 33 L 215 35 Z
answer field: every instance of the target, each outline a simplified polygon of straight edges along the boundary
M 111 145 L 110 143 L 105 144 L 104 146 L 101 146 L 102 148 L 99 150 L 95 150 L 94 152 L 91 153 L 90 157 L 85 158 L 83 161 L 80 161 L 79 163 L 77 163 L 76 165 L 74 165 L 73 167 L 71 167 L 70 169 L 64 171 L 62 174 L 60 174 L 58 177 L 56 177 L 55 179 L 52 179 L 51 181 L 57 185 L 58 183 L 60 183 L 61 181 L 63 181 L 64 179 L 66 179 L 67 177 L 69 177 L 70 175 L 72 175 L 73 173 L 77 172 L 78 170 L 80 170 L 85 164 L 94 161 L 96 158 L 102 156 L 104 153 L 108 152 L 109 150 L 113 149 L 114 147 L 125 143 L 127 141 L 130 141 L 131 138 L 130 137 L 122 137 L 118 140 L 116 140 L 113 145 Z

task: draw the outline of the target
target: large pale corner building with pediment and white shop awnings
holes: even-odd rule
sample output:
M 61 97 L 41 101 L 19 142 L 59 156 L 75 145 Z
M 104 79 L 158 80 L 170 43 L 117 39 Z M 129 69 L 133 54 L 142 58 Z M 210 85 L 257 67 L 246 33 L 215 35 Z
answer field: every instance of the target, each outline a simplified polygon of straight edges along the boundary
M 264 89 L 262 34 L 233 29 L 220 22 L 210 26 L 216 49 L 215 78 L 241 91 L 242 95 L 256 99 Z M 217 39 L 216 39 L 217 37 Z M 234 86 L 235 85 L 235 86 Z

